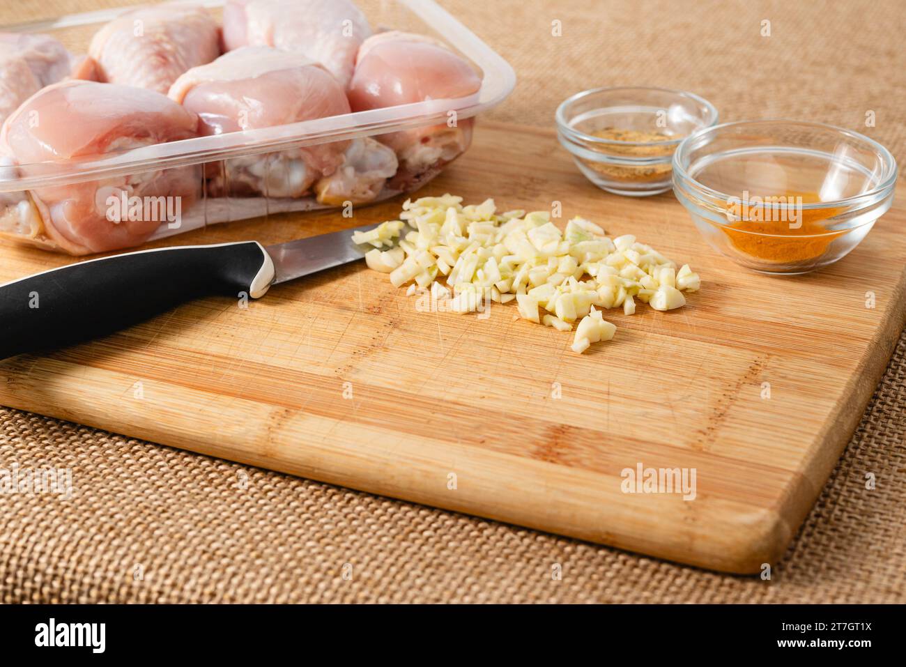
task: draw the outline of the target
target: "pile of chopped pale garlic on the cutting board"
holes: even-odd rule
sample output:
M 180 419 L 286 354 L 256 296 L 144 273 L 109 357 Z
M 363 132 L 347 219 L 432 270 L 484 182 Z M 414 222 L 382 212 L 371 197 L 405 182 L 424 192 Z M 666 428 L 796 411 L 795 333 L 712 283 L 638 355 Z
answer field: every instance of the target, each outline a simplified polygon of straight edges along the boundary
M 365 255 L 369 267 L 390 274 L 397 287 L 414 281 L 407 294 L 430 288 L 433 296 L 449 298 L 437 281 L 446 276 L 453 290 L 448 309 L 459 313 L 475 311 L 486 298 L 501 304 L 516 299 L 525 320 L 560 331 L 572 331 L 578 320 L 576 353 L 616 332 L 595 306 L 622 306 L 631 315 L 641 301 L 672 310 L 686 304 L 683 292 L 701 285 L 689 265 L 677 271 L 651 246 L 629 234 L 606 237 L 583 218 L 573 218 L 562 232 L 546 211 L 498 215 L 493 199 L 462 206 L 462 198 L 452 195 L 407 199 L 402 208 L 399 220 L 353 235 L 356 243 L 374 247 Z

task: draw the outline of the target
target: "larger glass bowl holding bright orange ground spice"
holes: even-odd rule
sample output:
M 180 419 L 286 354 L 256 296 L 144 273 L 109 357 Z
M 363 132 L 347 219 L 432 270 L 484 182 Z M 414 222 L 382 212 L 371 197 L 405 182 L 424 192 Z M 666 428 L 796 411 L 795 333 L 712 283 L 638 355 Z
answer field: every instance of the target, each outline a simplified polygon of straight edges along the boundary
M 846 256 L 891 208 L 896 179 L 880 143 L 814 122 L 728 122 L 673 155 L 673 191 L 708 244 L 767 274 Z

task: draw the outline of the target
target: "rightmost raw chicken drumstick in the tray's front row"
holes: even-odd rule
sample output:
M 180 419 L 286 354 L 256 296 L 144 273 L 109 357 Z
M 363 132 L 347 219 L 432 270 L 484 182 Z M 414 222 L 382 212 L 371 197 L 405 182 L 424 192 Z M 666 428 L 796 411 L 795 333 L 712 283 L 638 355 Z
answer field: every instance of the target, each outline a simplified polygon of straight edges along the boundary
M 368 111 L 428 100 L 467 97 L 481 78 L 456 53 L 429 37 L 396 31 L 361 44 L 349 89 L 352 111 Z M 400 160 L 391 189 L 415 189 L 467 150 L 472 119 L 378 137 Z

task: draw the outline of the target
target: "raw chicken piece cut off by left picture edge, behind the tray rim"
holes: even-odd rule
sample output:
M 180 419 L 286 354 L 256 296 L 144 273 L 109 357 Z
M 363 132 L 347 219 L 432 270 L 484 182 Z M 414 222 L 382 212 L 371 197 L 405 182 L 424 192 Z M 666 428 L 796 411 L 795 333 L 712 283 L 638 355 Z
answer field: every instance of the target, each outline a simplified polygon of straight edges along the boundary
M 45 34 L 0 33 L 0 123 L 44 86 L 69 74 L 69 52 Z

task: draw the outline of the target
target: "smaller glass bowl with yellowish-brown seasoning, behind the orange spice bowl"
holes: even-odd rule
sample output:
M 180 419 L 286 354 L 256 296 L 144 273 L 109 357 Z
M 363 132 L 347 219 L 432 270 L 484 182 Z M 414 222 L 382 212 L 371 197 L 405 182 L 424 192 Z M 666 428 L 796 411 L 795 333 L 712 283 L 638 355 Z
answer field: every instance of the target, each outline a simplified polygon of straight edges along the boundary
M 663 88 L 595 88 L 573 95 L 556 111 L 560 143 L 585 177 L 629 197 L 669 190 L 679 142 L 717 121 L 710 102 Z

